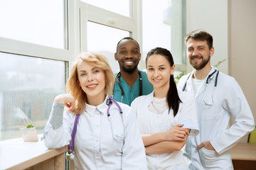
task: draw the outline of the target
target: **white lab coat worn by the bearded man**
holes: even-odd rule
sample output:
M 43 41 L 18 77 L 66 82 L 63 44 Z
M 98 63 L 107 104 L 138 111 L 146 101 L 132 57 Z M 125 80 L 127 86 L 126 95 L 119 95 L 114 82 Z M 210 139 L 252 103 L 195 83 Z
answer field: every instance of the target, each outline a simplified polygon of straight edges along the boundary
M 214 68 L 209 74 L 212 72 L 214 72 Z M 192 76 L 188 78 L 188 75 L 181 77 L 178 81 L 178 89 L 182 89 L 188 79 L 185 91 L 193 94 L 193 79 Z M 186 142 L 185 154 L 192 161 L 190 169 L 233 169 L 230 148 L 255 128 L 250 106 L 238 82 L 233 77 L 220 72 L 213 94 L 213 106 L 206 106 L 203 103 L 206 91 L 205 101 L 211 102 L 215 76 L 216 73 L 210 80 L 207 90 L 205 79 L 195 95 L 200 133 Z M 235 117 L 235 123 L 228 128 L 231 114 Z M 196 150 L 201 142 L 208 140 L 215 151 L 205 148 Z

